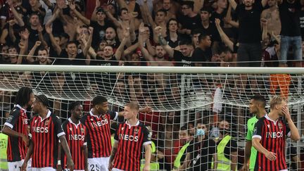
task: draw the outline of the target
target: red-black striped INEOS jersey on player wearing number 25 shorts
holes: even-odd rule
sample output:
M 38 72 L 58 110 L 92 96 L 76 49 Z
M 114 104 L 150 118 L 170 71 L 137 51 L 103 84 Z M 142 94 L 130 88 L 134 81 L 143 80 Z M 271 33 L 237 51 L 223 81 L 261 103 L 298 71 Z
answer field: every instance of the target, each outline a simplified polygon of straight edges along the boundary
M 81 119 L 87 127 L 88 158 L 109 157 L 112 150 L 110 141 L 110 120 L 116 120 L 118 113 L 110 111 L 96 116 L 91 111 Z

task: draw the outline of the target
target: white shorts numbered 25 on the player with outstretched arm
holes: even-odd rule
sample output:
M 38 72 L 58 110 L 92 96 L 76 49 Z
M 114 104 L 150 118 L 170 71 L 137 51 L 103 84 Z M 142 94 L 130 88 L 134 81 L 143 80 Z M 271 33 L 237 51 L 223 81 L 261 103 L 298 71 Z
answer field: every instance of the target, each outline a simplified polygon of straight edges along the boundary
M 108 171 L 108 158 L 88 158 L 89 171 Z

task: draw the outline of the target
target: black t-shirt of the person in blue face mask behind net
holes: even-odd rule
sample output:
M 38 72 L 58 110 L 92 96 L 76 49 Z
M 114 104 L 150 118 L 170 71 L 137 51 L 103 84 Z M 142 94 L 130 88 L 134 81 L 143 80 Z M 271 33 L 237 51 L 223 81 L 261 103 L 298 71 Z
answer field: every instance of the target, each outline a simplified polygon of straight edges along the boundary
M 213 154 L 216 153 L 215 141 L 213 139 L 204 139 L 197 142 L 193 140 L 187 148 L 190 153 L 190 170 L 211 170 L 211 163 L 213 162 Z

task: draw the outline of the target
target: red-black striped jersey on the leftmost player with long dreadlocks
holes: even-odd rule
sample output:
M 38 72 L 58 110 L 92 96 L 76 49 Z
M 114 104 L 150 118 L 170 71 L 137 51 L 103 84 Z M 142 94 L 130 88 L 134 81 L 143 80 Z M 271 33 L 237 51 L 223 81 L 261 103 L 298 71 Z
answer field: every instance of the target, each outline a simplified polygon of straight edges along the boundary
M 4 125 L 15 132 L 28 135 L 26 110 L 16 105 L 8 116 Z M 8 162 L 20 161 L 25 158 L 27 146 L 21 137 L 8 137 L 7 160 Z

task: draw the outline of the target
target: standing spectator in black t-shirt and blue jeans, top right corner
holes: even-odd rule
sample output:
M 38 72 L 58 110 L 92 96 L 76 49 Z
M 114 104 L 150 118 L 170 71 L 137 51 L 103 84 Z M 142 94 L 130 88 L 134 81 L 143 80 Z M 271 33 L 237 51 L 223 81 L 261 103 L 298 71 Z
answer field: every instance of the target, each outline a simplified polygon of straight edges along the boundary
M 287 66 L 287 53 L 293 47 L 293 60 L 296 67 L 302 67 L 302 37 L 300 31 L 300 1 L 280 0 L 279 14 L 281 19 L 280 67 Z

